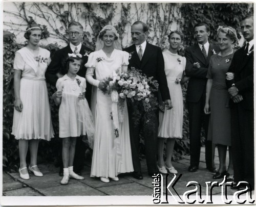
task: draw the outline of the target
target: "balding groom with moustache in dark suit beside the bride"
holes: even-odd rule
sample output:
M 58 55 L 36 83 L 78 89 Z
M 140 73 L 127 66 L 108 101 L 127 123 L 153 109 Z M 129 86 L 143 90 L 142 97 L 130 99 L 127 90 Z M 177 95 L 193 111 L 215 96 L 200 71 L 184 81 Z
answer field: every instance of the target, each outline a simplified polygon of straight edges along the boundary
M 130 53 L 128 67 L 140 69 L 147 77 L 153 76 L 154 80 L 158 81 L 159 91 L 167 109 L 171 109 L 172 102 L 170 101 L 169 89 L 164 72 L 164 60 L 161 48 L 146 41 L 148 29 L 147 25 L 142 21 L 134 22 L 131 33 L 134 44 L 123 49 L 127 53 Z M 157 111 L 134 113 L 137 110 L 132 104 L 129 105 L 128 110 L 134 167 L 133 176 L 137 179 L 143 179 L 139 159 L 140 128 L 143 128 L 147 171 L 149 175 L 153 175 L 158 172 L 156 164 L 158 113 Z M 138 120 L 139 124 L 134 119 Z

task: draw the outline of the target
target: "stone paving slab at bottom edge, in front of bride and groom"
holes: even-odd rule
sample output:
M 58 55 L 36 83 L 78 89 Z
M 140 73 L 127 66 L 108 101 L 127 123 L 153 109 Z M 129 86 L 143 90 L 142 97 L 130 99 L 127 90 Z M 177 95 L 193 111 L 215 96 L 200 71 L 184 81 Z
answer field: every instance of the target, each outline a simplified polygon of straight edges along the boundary
M 120 184 L 116 186 L 100 187 L 98 190 L 108 195 L 152 195 L 151 188 L 142 186 L 138 183 Z

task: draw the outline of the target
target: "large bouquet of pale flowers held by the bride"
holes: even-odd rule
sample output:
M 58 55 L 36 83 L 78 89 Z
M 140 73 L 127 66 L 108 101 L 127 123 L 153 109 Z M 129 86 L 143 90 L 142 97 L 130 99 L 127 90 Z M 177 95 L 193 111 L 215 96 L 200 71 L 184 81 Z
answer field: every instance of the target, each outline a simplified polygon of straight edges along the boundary
M 158 90 L 157 81 L 153 77 L 146 77 L 141 71 L 132 67 L 127 72 L 115 71 L 113 77 L 107 77 L 102 82 L 104 94 L 111 94 L 116 91 L 119 96 L 119 105 L 124 106 L 125 99 L 132 101 L 132 104 L 143 106 L 144 111 L 156 110 L 158 102 L 152 92 Z

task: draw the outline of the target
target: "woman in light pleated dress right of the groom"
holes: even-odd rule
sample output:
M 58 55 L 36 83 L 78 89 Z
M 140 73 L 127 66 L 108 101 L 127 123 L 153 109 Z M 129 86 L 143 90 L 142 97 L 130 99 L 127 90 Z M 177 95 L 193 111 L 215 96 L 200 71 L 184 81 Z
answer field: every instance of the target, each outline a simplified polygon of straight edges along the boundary
M 184 76 L 186 66 L 185 57 L 178 55 L 178 49 L 182 41 L 182 34 L 179 31 L 169 32 L 169 49 L 163 52 L 164 71 L 172 100 L 173 108 L 159 111 L 158 127 L 158 170 L 161 173 L 177 173 L 172 165 L 173 149 L 175 139 L 182 138 L 183 125 L 183 96 L 181 83 L 185 83 L 188 77 Z M 166 142 L 166 163 L 163 160 L 164 141 Z M 167 169 L 166 169 L 167 168 Z

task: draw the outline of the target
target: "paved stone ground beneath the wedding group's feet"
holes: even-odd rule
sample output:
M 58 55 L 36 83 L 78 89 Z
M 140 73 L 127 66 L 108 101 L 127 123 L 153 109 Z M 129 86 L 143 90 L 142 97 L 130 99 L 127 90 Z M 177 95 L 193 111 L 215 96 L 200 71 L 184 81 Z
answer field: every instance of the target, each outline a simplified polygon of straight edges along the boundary
M 177 193 L 183 195 L 187 190 L 194 189 L 186 188 L 189 181 L 194 180 L 198 182 L 202 187 L 202 195 L 206 195 L 205 182 L 213 182 L 212 179 L 214 173 L 210 173 L 206 170 L 205 166 L 205 149 L 201 149 L 201 159 L 199 165 L 199 171 L 191 173 L 187 171 L 189 166 L 189 156 L 185 156 L 184 159 L 174 162 L 173 165 L 182 176 L 177 182 L 175 189 Z M 228 158 L 227 158 L 228 160 Z M 215 158 L 216 167 L 218 167 L 218 152 L 216 150 Z M 228 162 L 227 162 L 228 163 Z M 58 168 L 55 168 L 53 164 L 39 165 L 43 177 L 36 177 L 30 174 L 29 180 L 24 180 L 19 177 L 18 173 L 3 173 L 3 195 L 4 196 L 104 196 L 104 195 L 150 195 L 153 194 L 154 186 L 152 185 L 152 177 L 147 175 L 145 160 L 142 160 L 142 173 L 143 179 L 137 180 L 131 175 L 124 175 L 120 177 L 119 182 L 111 180 L 110 183 L 102 183 L 99 178 L 90 177 L 89 164 L 84 167 L 82 175 L 84 180 L 78 181 L 71 179 L 69 185 L 61 186 L 58 175 Z M 179 176 L 177 174 L 177 176 Z M 170 181 L 173 175 L 169 175 Z M 222 180 L 218 180 L 221 182 Z M 165 178 L 164 178 L 165 182 Z M 165 184 L 165 183 L 164 183 Z M 208 188 L 210 190 L 210 187 Z M 235 191 L 228 188 L 228 195 L 233 195 Z M 168 192 L 167 192 L 168 193 Z M 169 193 L 168 193 L 169 194 Z M 213 188 L 213 195 L 221 195 L 221 188 Z

